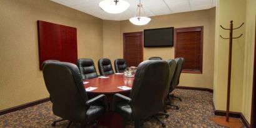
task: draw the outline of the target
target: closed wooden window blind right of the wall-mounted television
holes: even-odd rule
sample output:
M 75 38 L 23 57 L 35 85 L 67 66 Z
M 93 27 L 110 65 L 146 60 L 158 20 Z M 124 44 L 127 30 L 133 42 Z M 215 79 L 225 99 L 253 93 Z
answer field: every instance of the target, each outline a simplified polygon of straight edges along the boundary
M 175 29 L 175 57 L 184 57 L 183 72 L 202 73 L 203 27 Z

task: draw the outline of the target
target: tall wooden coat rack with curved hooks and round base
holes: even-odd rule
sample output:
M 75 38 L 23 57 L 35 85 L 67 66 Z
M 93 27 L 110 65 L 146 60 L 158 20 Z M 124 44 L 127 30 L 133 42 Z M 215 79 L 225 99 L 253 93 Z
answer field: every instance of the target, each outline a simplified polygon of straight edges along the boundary
M 242 123 L 240 122 L 239 119 L 229 119 L 229 104 L 230 104 L 230 78 L 231 78 L 231 61 L 232 61 L 232 40 L 237 39 L 241 37 L 243 34 L 240 34 L 238 37 L 233 37 L 233 30 L 239 29 L 244 25 L 244 22 L 236 28 L 233 28 L 233 21 L 230 21 L 230 27 L 229 29 L 226 29 L 225 27 L 222 27 L 222 29 L 229 30 L 229 37 L 220 37 L 222 39 L 229 39 L 229 69 L 228 69 L 228 81 L 227 81 L 227 112 L 226 112 L 226 117 L 212 117 L 210 118 L 212 121 L 214 121 L 217 124 L 220 124 L 221 126 L 225 127 L 242 127 Z

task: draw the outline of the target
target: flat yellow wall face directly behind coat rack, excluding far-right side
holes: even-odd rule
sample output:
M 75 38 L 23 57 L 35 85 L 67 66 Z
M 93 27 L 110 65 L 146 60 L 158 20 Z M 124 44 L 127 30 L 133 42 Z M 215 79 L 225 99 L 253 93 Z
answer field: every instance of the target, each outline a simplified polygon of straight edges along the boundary
M 219 13 L 216 21 L 215 34 L 215 60 L 214 60 L 214 104 L 215 109 L 225 110 L 227 101 L 227 74 L 229 59 L 229 40 L 219 37 L 229 37 L 229 31 L 221 29 L 219 25 L 229 28 L 230 20 L 234 21 L 234 27 L 240 26 L 245 22 L 245 3 L 244 0 L 217 1 L 216 13 Z M 232 2 L 232 4 L 230 4 Z M 245 33 L 245 27 L 234 31 L 234 37 Z M 242 110 L 242 87 L 244 77 L 244 42 L 245 36 L 233 40 L 232 67 L 231 67 L 231 89 L 230 89 L 230 111 L 240 112 Z

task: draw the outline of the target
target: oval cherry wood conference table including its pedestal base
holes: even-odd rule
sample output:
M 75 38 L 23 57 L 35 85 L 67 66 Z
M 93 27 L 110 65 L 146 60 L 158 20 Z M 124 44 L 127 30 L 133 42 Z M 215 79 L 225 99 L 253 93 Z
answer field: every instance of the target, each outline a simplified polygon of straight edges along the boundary
M 132 88 L 134 77 L 126 77 L 124 74 L 112 74 L 109 76 L 100 76 L 93 79 L 84 80 L 84 88 L 91 89 L 97 87 L 91 91 L 87 91 L 87 94 L 91 97 L 95 97 L 99 94 L 105 94 L 110 104 L 109 111 L 106 112 L 99 119 L 99 124 L 106 127 L 123 127 L 123 119 L 116 112 L 112 111 L 112 96 L 116 93 L 129 96 L 130 89 L 124 90 L 122 87 L 126 86 Z M 122 87 L 121 87 L 122 86 Z

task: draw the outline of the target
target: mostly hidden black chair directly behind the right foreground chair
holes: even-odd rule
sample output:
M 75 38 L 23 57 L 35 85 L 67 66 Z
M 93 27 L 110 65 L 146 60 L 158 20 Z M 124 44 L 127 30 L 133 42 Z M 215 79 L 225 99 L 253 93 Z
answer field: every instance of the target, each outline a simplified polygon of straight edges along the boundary
M 176 62 L 174 61 L 174 59 L 168 59 L 167 62 L 170 66 L 170 74 L 169 74 L 169 82 L 167 83 L 165 93 L 164 93 L 165 97 L 167 97 L 165 99 L 165 105 L 172 106 L 172 104 L 170 102 L 170 97 L 169 97 L 169 89 L 170 89 L 170 82 L 172 81 L 172 77 L 174 76 Z M 160 119 L 157 116 L 165 116 L 165 118 L 167 119 L 169 117 L 169 114 L 167 114 L 167 111 L 165 110 L 165 112 L 159 112 L 159 113 L 155 114 L 155 116 L 153 116 L 155 119 L 157 119 L 157 121 L 159 121 L 162 124 L 162 127 L 165 127 L 164 121 L 162 121 L 162 119 Z

